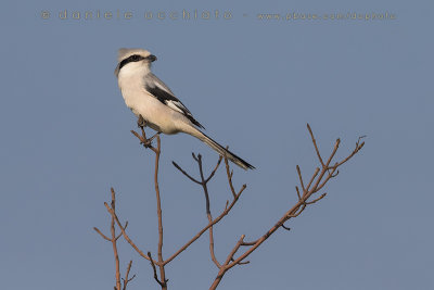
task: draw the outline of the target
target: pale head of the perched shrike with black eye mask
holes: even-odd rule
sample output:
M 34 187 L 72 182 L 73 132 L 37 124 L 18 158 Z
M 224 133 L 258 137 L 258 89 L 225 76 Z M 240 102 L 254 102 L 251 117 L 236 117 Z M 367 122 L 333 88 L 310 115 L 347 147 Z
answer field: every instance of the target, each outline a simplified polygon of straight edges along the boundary
M 156 56 L 151 54 L 151 52 L 149 52 L 148 50 L 122 48 L 119 49 L 117 54 L 117 66 L 115 70 L 115 75 L 118 76 L 120 70 L 149 70 L 151 63 L 154 61 L 156 61 Z

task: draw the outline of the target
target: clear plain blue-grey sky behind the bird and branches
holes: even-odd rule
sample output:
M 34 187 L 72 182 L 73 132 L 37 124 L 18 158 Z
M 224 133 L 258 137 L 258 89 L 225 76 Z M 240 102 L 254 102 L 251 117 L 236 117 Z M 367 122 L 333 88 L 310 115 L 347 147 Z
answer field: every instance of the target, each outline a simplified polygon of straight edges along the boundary
M 131 237 L 156 256 L 152 152 L 130 135 L 136 118 L 113 74 L 122 47 L 155 54 L 154 73 L 206 133 L 257 167 L 234 168 L 235 185 L 248 187 L 216 227 L 220 261 L 242 234 L 257 238 L 296 201 L 296 164 L 306 178 L 318 166 L 306 123 L 324 155 L 337 137 L 344 156 L 367 135 L 329 196 L 219 289 L 434 289 L 433 1 L 7 0 L 0 8 L 2 289 L 113 289 L 112 245 L 92 229 L 108 232 L 103 202 L 112 186 Z M 329 20 L 286 20 L 293 12 Z M 189 136 L 162 142 L 168 256 L 206 224 L 201 189 L 171 161 L 196 173 L 192 151 L 209 167 L 217 154 Z M 210 191 L 217 215 L 230 198 L 224 171 Z M 124 241 L 119 248 L 123 269 L 133 260 L 129 289 L 158 289 L 149 263 Z M 208 289 L 217 269 L 207 248 L 204 236 L 167 267 L 169 289 Z

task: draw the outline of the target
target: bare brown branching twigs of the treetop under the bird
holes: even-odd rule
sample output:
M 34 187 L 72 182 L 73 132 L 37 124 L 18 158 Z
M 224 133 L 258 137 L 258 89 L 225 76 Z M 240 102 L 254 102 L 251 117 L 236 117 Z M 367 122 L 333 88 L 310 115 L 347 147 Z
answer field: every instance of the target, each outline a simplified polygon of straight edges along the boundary
M 126 228 L 128 226 L 128 223 L 125 224 L 125 226 L 122 225 L 119 222 L 119 218 L 116 214 L 115 211 L 115 192 L 112 189 L 112 203 L 111 206 L 107 203 L 104 203 L 105 207 L 107 209 L 108 213 L 112 216 L 112 223 L 111 223 L 111 234 L 112 238 L 105 236 L 102 234 L 98 228 L 94 228 L 94 230 L 105 240 L 111 241 L 113 244 L 113 251 L 115 254 L 115 265 L 116 265 L 116 290 L 120 290 L 120 272 L 119 272 L 119 257 L 117 254 L 117 244 L 116 241 L 117 239 L 123 236 L 125 240 L 142 256 L 143 259 L 150 261 L 152 269 L 153 269 L 153 275 L 154 279 L 156 282 L 161 286 L 162 290 L 167 289 L 167 279 L 166 279 L 166 273 L 165 273 L 165 265 L 170 263 L 174 259 L 176 259 L 180 253 L 182 253 L 184 250 L 187 250 L 193 242 L 195 242 L 205 231 L 209 232 L 209 255 L 213 261 L 213 263 L 217 266 L 218 268 L 218 274 L 215 280 L 213 281 L 212 286 L 209 289 L 216 289 L 218 285 L 220 283 L 222 277 L 225 274 L 231 269 L 232 267 L 237 265 L 245 265 L 250 263 L 248 261 L 245 261 L 246 257 L 252 254 L 260 244 L 263 244 L 272 234 L 275 234 L 279 228 L 285 229 L 285 230 L 291 230 L 290 227 L 285 226 L 285 222 L 288 222 L 291 218 L 297 217 L 301 215 L 304 210 L 314 203 L 319 202 L 321 199 L 323 199 L 327 193 L 322 193 L 319 197 L 314 196 L 318 191 L 320 191 L 330 179 L 334 178 L 339 174 L 339 167 L 343 165 L 345 162 L 350 160 L 355 154 L 357 154 L 361 148 L 363 147 L 365 142 L 360 143 L 360 140 L 362 137 L 359 138 L 356 142 L 356 148 L 348 154 L 345 159 L 343 159 L 340 162 L 335 162 L 333 165 L 331 165 L 331 162 L 333 157 L 335 156 L 339 146 L 340 146 L 340 139 L 336 140 L 334 148 L 332 152 L 330 153 L 329 157 L 327 159 L 327 162 L 324 163 L 324 159 L 321 156 L 317 141 L 315 139 L 314 133 L 310 128 L 310 126 L 307 124 L 307 129 L 310 134 L 311 141 L 315 148 L 315 152 L 318 156 L 319 163 L 321 164 L 321 167 L 317 167 L 310 178 L 308 179 L 308 182 L 306 184 L 303 178 L 302 171 L 299 166 L 296 166 L 296 172 L 298 175 L 299 179 L 299 186 L 295 187 L 296 194 L 297 194 L 297 202 L 289 210 L 286 211 L 281 218 L 272 226 L 270 227 L 264 235 L 261 235 L 259 238 L 257 238 L 254 241 L 244 241 L 245 236 L 242 235 L 241 238 L 237 241 L 232 250 L 229 252 L 227 255 L 226 260 L 224 263 L 220 263 L 218 259 L 216 257 L 215 254 L 215 237 L 214 237 L 214 225 L 219 223 L 226 215 L 230 213 L 230 211 L 233 209 L 235 203 L 239 201 L 242 192 L 246 189 L 246 185 L 243 185 L 240 190 L 235 190 L 233 186 L 233 171 L 231 171 L 228 159 L 219 156 L 216 165 L 214 168 L 210 171 L 210 174 L 205 177 L 204 174 L 204 168 L 203 168 L 203 162 L 202 162 L 202 155 L 197 154 L 195 155 L 192 153 L 193 160 L 197 164 L 199 168 L 199 178 L 193 177 L 191 174 L 187 173 L 183 168 L 181 168 L 177 163 L 173 162 L 174 166 L 181 172 L 187 178 L 189 178 L 191 181 L 194 184 L 197 184 L 202 187 L 202 190 L 204 192 L 205 197 L 205 212 L 206 212 L 206 217 L 207 217 L 207 225 L 204 226 L 194 237 L 192 237 L 187 243 L 184 243 L 182 247 L 179 248 L 174 254 L 171 254 L 168 259 L 164 260 L 163 257 L 163 213 L 162 213 L 162 204 L 161 204 L 161 193 L 159 193 L 159 186 L 158 186 L 158 167 L 159 167 L 159 156 L 161 156 L 161 138 L 159 135 L 156 134 L 152 138 L 148 139 L 145 136 L 145 131 L 143 127 L 141 127 L 141 135 L 138 133 L 131 130 L 131 133 L 140 140 L 140 143 L 143 144 L 144 148 L 151 149 L 155 153 L 155 171 L 154 171 L 154 186 L 155 186 L 155 194 L 156 194 L 156 207 L 157 207 L 157 219 L 158 219 L 158 248 L 157 248 L 157 260 L 152 259 L 151 252 L 148 252 L 146 254 L 141 251 L 135 242 L 129 238 L 129 236 L 126 232 Z M 152 140 L 156 138 L 156 147 L 152 146 Z M 227 174 L 227 180 L 229 185 L 230 192 L 232 193 L 232 201 L 229 202 L 229 200 L 226 202 L 225 210 L 216 217 L 213 218 L 212 211 L 210 211 L 210 199 L 209 199 L 209 192 L 208 192 L 208 186 L 207 184 L 212 180 L 212 178 L 215 176 L 215 173 L 219 168 L 219 165 L 221 161 L 225 159 L 225 165 L 226 165 L 226 174 Z M 120 234 L 116 236 L 115 232 L 115 225 L 117 225 L 120 229 Z M 242 251 L 241 251 L 242 250 Z M 240 253 L 238 253 L 240 252 Z M 235 256 L 237 255 L 237 256 Z M 128 278 L 130 267 L 131 267 L 132 261 L 129 263 L 127 273 L 126 273 L 126 278 L 123 279 L 124 281 L 124 288 L 123 290 L 126 290 L 127 283 L 132 280 L 136 275 L 133 275 L 131 278 Z M 159 269 L 159 278 L 157 274 L 157 267 Z

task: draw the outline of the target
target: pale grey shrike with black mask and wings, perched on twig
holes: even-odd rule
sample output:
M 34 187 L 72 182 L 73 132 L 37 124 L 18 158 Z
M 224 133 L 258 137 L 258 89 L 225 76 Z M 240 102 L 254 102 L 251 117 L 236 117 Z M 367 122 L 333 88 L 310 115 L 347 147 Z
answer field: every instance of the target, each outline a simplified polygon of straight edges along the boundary
M 158 134 L 186 133 L 196 137 L 220 155 L 227 156 L 240 167 L 255 168 L 203 134 L 204 128 L 174 92 L 151 73 L 156 56 L 144 49 L 119 49 L 115 70 L 125 103 L 139 118 Z

